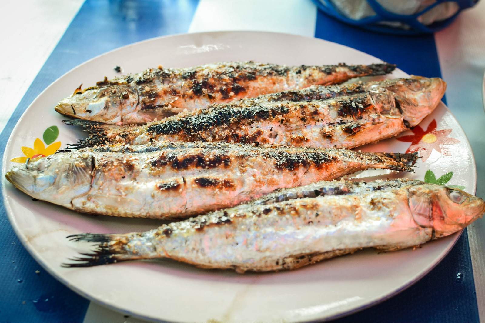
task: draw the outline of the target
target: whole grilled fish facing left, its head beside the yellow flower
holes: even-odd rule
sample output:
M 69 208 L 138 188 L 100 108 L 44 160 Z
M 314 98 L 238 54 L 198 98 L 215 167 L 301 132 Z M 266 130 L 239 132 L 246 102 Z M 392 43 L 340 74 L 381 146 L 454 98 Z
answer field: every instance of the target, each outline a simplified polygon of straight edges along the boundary
M 15 166 L 5 176 L 34 198 L 79 212 L 165 219 L 368 168 L 413 172 L 405 162 L 415 158 L 344 149 L 157 143 L 54 154 Z

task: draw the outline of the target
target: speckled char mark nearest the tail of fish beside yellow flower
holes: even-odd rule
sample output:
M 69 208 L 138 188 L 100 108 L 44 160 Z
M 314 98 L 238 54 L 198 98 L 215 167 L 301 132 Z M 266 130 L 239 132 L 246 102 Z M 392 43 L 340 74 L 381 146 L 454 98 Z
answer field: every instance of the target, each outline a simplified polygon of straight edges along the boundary
M 305 168 L 309 168 L 312 165 L 321 167 L 336 161 L 335 157 L 332 157 L 323 151 L 302 151 L 293 154 L 287 151 L 269 151 L 266 155 L 275 160 L 276 168 L 286 168 L 290 171 L 295 170 L 300 166 Z

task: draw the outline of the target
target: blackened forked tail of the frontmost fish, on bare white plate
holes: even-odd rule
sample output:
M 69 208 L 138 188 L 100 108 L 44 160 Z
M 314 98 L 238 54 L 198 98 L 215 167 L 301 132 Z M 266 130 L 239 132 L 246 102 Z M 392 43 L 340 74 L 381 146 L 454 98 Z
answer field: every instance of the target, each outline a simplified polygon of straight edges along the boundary
M 128 235 L 105 234 L 105 233 L 80 233 L 67 237 L 69 241 L 74 242 L 94 242 L 96 249 L 88 253 L 80 253 L 84 257 L 69 258 L 71 263 L 62 263 L 62 267 L 92 267 L 125 261 L 130 259 L 139 259 L 133 253 L 129 252 L 126 246 Z

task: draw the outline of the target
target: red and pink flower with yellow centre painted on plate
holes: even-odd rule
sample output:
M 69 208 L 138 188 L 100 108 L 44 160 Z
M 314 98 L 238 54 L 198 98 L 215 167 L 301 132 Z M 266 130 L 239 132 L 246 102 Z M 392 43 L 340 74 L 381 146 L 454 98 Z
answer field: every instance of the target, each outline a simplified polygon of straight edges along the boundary
M 444 145 L 454 145 L 459 143 L 458 139 L 448 138 L 447 136 L 452 132 L 452 129 L 436 130 L 436 120 L 430 122 L 428 129 L 424 131 L 420 126 L 411 129 L 414 135 L 402 136 L 396 138 L 399 141 L 411 143 L 407 148 L 406 153 L 420 152 L 422 161 L 426 161 L 431 155 L 433 148 L 445 156 L 451 156 L 452 154 Z

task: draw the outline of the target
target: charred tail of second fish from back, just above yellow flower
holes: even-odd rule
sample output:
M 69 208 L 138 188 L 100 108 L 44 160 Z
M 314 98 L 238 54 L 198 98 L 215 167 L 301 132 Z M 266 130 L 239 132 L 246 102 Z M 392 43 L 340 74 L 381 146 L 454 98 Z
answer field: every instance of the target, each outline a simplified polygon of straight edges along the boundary
M 69 126 L 81 126 L 83 128 L 82 131 L 85 131 L 89 134 L 89 137 L 78 140 L 76 144 L 69 145 L 69 148 L 66 148 L 63 151 L 92 147 L 95 145 L 99 146 L 114 144 L 109 134 L 123 128 L 123 126 L 109 125 L 106 123 L 83 119 L 63 120 L 63 122 Z

